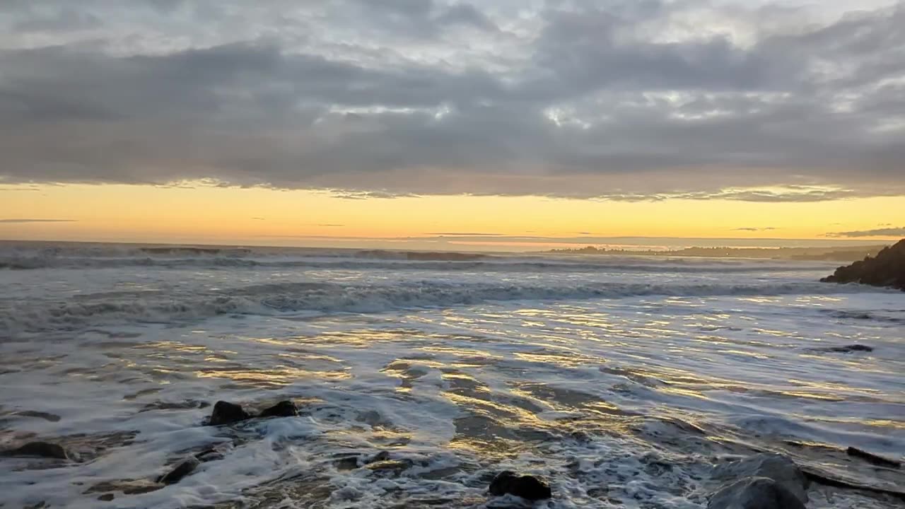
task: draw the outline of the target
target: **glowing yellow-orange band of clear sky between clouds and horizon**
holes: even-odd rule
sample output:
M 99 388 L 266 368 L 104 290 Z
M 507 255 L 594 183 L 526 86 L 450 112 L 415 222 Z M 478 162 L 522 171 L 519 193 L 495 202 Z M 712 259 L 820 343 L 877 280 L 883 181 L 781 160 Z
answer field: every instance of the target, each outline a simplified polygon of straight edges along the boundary
M 891 226 L 905 226 L 905 197 L 804 203 L 465 196 L 349 199 L 319 191 L 204 185 L 0 187 L 0 238 L 5 239 L 387 246 L 400 244 L 388 240 L 391 237 L 464 233 L 815 239 L 832 232 Z M 405 242 L 413 248 L 431 246 L 421 244 Z M 472 239 L 452 247 L 532 249 L 554 244 L 555 239 L 502 245 Z

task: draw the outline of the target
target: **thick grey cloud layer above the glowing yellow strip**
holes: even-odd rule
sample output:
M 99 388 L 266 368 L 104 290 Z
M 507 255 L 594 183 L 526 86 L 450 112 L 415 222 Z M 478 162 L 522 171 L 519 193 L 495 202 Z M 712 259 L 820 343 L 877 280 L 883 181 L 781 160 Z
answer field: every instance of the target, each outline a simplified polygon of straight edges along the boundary
M 905 3 L 262 4 L 9 4 L 0 181 L 905 195 Z

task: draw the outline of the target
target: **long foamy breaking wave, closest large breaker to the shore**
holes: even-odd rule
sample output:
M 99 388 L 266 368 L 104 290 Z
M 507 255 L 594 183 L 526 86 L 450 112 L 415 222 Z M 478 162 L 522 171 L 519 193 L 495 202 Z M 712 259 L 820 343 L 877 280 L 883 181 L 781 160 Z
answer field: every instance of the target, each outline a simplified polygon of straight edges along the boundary
M 873 290 L 883 292 L 881 289 Z M 512 301 L 862 293 L 860 286 L 824 283 L 644 284 L 588 283 L 549 286 L 512 283 L 421 281 L 392 285 L 271 283 L 206 293 L 117 292 L 81 295 L 66 302 L 0 303 L 0 330 L 11 334 L 77 331 L 106 324 L 172 323 L 223 314 L 279 315 L 287 312 L 390 312 Z M 0 337 L 3 333 L 0 332 Z

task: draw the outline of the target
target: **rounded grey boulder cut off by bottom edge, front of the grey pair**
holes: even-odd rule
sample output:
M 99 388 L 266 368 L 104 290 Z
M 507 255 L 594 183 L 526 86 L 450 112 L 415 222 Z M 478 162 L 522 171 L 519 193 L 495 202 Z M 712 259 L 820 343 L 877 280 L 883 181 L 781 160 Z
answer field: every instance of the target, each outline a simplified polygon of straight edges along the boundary
M 805 509 L 805 504 L 774 479 L 744 477 L 710 495 L 707 509 Z

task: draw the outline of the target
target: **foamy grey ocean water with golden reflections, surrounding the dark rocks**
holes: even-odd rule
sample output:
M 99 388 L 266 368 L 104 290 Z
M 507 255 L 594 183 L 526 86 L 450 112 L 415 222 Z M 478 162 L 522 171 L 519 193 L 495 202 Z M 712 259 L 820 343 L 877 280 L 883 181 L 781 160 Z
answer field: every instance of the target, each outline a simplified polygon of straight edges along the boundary
M 0 507 L 511 507 L 514 470 L 536 507 L 697 508 L 755 451 L 891 489 L 844 449 L 905 452 L 905 293 L 837 264 L 0 243 L 0 449 L 78 456 L 0 458 Z M 300 417 L 204 426 L 221 399 Z

